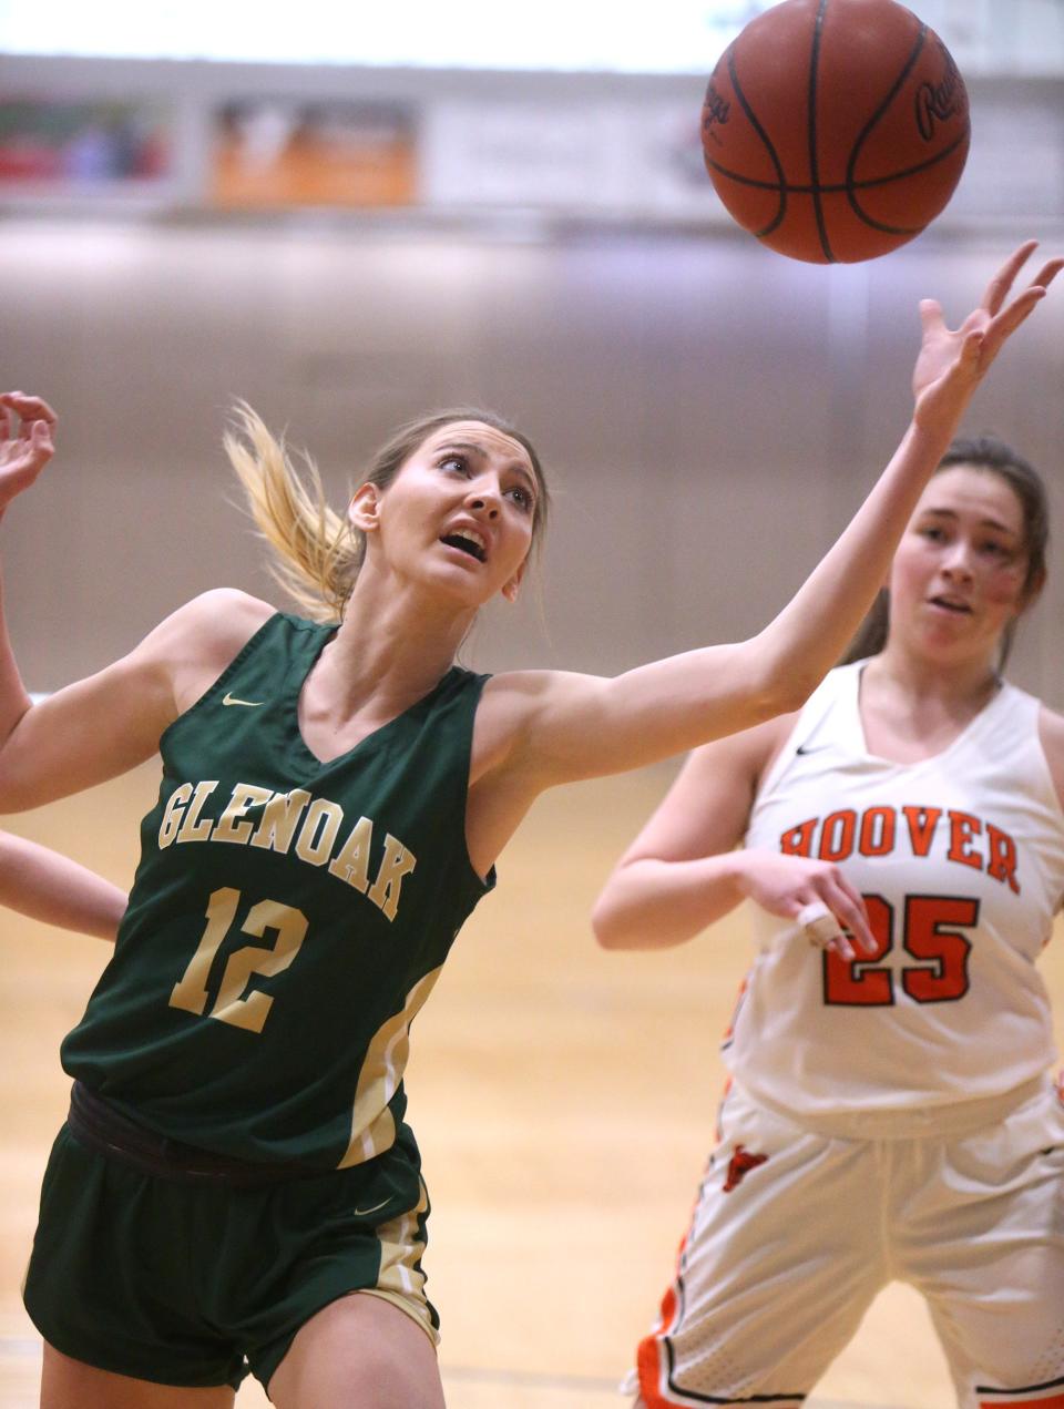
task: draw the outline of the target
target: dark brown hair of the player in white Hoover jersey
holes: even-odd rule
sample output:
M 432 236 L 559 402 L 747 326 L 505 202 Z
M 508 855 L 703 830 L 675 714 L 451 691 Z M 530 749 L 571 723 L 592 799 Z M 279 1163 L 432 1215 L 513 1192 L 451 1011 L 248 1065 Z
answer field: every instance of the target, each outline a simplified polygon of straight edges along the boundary
M 972 469 L 998 475 L 1016 495 L 1023 511 L 1023 551 L 1027 555 L 1027 572 L 1023 578 L 1023 606 L 1029 606 L 1041 590 L 1046 581 L 1046 557 L 1048 552 L 1050 513 L 1046 486 L 1037 469 L 996 435 L 975 435 L 971 440 L 955 440 L 936 465 L 934 473 L 955 465 L 971 465 Z M 843 664 L 862 661 L 868 655 L 878 655 L 886 645 L 886 633 L 891 624 L 891 595 L 886 588 L 879 590 L 875 602 L 857 630 L 857 635 L 843 657 Z M 1016 634 L 1016 620 L 1005 628 L 1001 643 L 1001 659 L 998 669 L 1005 668 L 1005 662 L 1012 651 Z

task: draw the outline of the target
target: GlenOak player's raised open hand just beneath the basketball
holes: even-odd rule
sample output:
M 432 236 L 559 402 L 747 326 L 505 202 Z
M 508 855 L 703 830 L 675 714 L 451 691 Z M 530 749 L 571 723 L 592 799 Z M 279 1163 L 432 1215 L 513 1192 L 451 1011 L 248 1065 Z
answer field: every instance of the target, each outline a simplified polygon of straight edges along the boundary
M 941 304 L 920 303 L 923 342 L 913 371 L 915 420 L 929 430 L 953 433 L 975 387 L 1016 328 L 1046 297 L 1046 289 L 1064 268 L 1064 259 L 1050 259 L 1012 302 L 1006 302 L 1016 275 L 1037 248 L 1029 240 L 1010 255 L 991 279 L 982 302 L 957 330 L 946 327 Z

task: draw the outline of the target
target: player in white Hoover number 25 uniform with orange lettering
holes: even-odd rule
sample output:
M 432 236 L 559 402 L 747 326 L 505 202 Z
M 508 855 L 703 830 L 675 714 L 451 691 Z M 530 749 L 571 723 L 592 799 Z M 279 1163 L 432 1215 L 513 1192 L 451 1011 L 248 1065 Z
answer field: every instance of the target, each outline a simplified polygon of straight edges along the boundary
M 1033 469 L 955 442 L 858 659 L 698 750 L 603 890 L 607 947 L 679 944 L 744 898 L 758 940 L 638 1406 L 792 1409 L 895 1279 L 963 1409 L 1064 1406 L 1064 1109 L 1034 967 L 1064 896 L 1064 719 L 1001 679 L 1046 542 Z

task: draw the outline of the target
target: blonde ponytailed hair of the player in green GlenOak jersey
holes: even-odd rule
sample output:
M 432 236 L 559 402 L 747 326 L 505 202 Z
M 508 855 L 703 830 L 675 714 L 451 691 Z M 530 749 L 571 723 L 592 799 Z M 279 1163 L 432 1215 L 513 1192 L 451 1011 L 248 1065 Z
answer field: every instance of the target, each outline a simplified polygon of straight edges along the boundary
M 365 537 L 328 507 L 310 455 L 302 452 L 296 468 L 283 437 L 276 440 L 247 403 L 238 402 L 234 416 L 235 428 L 225 433 L 223 444 L 251 517 L 273 550 L 271 572 L 314 620 L 338 621 L 365 558 Z M 385 441 L 359 483 L 388 489 L 414 451 L 454 421 L 482 421 L 527 451 L 538 488 L 533 519 L 533 545 L 538 548 L 550 506 L 543 465 L 531 441 L 495 411 L 457 406 L 407 421 Z

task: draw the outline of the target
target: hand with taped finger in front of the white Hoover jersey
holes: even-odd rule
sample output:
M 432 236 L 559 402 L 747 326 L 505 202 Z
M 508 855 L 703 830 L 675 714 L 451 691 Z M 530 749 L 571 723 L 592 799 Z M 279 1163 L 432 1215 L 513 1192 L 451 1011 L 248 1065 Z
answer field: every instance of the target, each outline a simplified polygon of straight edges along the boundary
M 785 920 L 799 920 L 806 906 L 827 906 L 839 921 L 839 933 L 822 940 L 810 931 L 810 943 L 854 960 L 860 955 L 850 943 L 851 936 L 860 950 L 875 954 L 864 900 L 837 865 L 753 848 L 738 852 L 736 859 L 740 861 L 736 883 L 754 905 Z

